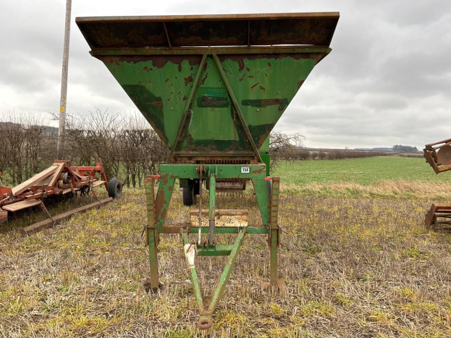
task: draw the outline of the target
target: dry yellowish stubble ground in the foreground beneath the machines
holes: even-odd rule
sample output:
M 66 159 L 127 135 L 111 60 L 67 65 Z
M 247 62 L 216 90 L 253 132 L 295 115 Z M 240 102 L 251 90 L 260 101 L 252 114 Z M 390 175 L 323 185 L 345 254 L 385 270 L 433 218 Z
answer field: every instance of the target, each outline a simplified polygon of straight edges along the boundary
M 378 186 L 327 187 L 348 188 Z M 450 336 L 451 237 L 425 230 L 431 200 L 417 183 L 412 189 L 418 195 L 410 199 L 283 195 L 279 272 L 286 294 L 262 292 L 260 281 L 269 276 L 267 238 L 248 235 L 208 332 L 195 324 L 178 235 L 162 236 L 159 247 L 167 291 L 143 290 L 148 259 L 141 190 L 34 236 L 19 237 L 10 225 L 0 232 L 0 336 Z M 219 202 L 221 208 L 249 208 L 251 223 L 258 224 L 252 195 Z M 168 221 L 187 219 L 188 211 L 177 193 Z M 199 260 L 208 292 L 224 259 Z

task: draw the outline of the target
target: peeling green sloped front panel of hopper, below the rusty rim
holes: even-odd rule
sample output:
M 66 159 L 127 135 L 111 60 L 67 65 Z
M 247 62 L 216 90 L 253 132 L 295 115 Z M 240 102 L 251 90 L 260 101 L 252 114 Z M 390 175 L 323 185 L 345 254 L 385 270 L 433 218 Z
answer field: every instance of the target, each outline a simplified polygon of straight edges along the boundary
M 179 135 L 175 156 L 258 156 L 257 149 L 299 87 L 330 51 L 263 49 L 261 54 L 231 56 L 206 49 L 205 64 L 199 67 L 201 50 L 198 55 L 133 50 L 124 56 L 110 51 L 114 57 L 95 52 L 168 147 Z M 193 87 L 196 74 L 198 87 Z

